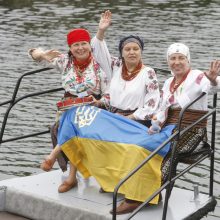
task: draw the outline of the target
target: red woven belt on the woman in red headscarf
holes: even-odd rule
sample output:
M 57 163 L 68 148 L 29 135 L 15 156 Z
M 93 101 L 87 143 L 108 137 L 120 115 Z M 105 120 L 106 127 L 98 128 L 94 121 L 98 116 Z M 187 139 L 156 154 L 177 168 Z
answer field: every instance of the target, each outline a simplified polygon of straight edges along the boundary
M 72 106 L 80 106 L 90 104 L 93 101 L 92 97 L 83 97 L 83 98 L 73 98 L 67 97 L 57 102 L 57 108 L 59 111 L 64 111 Z

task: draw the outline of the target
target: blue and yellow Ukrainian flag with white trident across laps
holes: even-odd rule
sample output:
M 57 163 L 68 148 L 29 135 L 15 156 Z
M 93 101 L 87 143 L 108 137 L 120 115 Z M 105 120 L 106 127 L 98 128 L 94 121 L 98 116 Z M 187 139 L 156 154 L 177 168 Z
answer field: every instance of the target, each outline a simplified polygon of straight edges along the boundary
M 171 134 L 174 125 L 148 135 L 144 125 L 93 106 L 63 113 L 58 145 L 85 178 L 94 176 L 107 192 L 139 165 Z M 145 201 L 161 185 L 161 163 L 170 149 L 162 149 L 120 189 L 127 199 Z M 151 203 L 157 204 L 158 197 Z

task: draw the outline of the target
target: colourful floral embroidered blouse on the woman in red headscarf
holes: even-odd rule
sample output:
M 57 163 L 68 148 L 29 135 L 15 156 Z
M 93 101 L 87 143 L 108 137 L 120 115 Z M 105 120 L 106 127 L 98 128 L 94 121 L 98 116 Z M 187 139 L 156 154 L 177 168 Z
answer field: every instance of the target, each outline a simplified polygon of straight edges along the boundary
M 81 75 L 75 71 L 73 62 L 67 54 L 54 58 L 51 63 L 42 62 L 61 72 L 62 87 L 72 95 L 78 97 L 90 94 L 103 95 L 107 88 L 106 74 L 94 59 Z

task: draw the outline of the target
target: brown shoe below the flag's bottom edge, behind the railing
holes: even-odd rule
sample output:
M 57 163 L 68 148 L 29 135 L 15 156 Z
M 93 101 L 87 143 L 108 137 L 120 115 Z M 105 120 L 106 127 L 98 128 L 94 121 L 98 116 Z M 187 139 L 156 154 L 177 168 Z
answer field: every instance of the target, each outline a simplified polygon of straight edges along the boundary
M 116 214 L 117 215 L 122 215 L 122 214 L 127 214 L 127 213 L 130 213 L 130 212 L 133 212 L 141 204 L 142 204 L 142 202 L 139 202 L 139 201 L 125 199 L 116 208 Z M 113 214 L 113 210 L 111 210 L 110 213 Z

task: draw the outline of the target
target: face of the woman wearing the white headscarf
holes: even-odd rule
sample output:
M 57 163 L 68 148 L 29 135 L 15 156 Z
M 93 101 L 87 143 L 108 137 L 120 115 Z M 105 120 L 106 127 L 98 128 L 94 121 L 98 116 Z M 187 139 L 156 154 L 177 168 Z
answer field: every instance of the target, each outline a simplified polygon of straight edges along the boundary
M 187 57 L 181 53 L 174 53 L 168 58 L 168 65 L 175 76 L 183 76 L 190 69 Z

